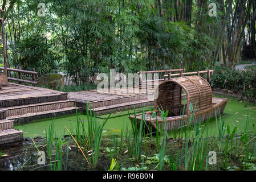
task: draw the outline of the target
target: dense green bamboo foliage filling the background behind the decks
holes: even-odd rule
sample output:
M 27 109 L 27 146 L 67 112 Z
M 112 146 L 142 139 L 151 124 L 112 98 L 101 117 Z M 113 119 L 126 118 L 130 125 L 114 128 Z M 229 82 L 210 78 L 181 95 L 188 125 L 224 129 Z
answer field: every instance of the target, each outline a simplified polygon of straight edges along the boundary
M 39 2 L 46 5 L 46 16 L 38 16 Z M 190 23 L 171 21 L 167 16 L 173 9 L 164 16 L 158 11 L 152 0 L 18 1 L 6 15 L 10 63 L 35 67 L 40 75 L 61 71 L 76 85 L 111 68 L 124 73 L 210 68 L 213 36 Z M 213 24 L 207 15 L 200 20 L 208 29 Z

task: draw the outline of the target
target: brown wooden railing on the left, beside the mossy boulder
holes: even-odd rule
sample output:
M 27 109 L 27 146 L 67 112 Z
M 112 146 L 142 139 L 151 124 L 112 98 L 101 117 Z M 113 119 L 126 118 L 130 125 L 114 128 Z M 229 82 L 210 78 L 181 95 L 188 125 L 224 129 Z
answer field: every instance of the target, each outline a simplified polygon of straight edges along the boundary
M 0 67 L 0 71 L 5 70 L 5 68 Z M 11 72 L 17 72 L 18 73 L 18 78 L 13 78 L 11 77 Z M 22 73 L 27 74 L 27 75 L 32 75 L 32 81 L 30 80 L 23 80 L 22 79 Z M 33 84 L 36 85 L 38 82 L 36 82 L 36 75 L 38 75 L 38 72 L 35 72 L 35 68 L 32 68 L 32 71 L 26 71 L 21 69 L 21 67 L 18 67 L 18 69 L 13 69 L 13 68 L 7 68 L 7 75 L 8 75 L 8 81 L 18 81 L 19 84 L 22 82 L 27 83 L 27 84 Z

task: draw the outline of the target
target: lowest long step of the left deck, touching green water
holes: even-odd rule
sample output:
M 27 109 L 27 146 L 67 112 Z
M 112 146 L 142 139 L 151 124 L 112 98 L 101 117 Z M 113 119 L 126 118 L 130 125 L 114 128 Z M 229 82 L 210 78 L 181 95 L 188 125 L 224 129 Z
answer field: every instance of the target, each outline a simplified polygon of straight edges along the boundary
M 25 124 L 25 123 L 30 123 L 31 121 L 35 121 L 38 119 L 54 118 L 54 117 L 59 117 L 62 115 L 74 114 L 74 113 L 76 113 L 76 110 L 81 111 L 82 109 L 80 107 L 66 107 L 66 108 L 62 108 L 62 109 L 38 111 L 36 113 L 11 115 L 9 117 L 6 117 L 6 119 L 13 120 L 14 123 Z

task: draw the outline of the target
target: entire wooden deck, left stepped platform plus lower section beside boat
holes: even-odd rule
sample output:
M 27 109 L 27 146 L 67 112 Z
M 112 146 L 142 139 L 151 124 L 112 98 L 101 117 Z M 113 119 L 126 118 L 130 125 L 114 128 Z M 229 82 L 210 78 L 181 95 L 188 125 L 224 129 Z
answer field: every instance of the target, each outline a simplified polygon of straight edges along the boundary
M 86 110 L 90 102 L 96 114 L 153 105 L 153 89 L 141 88 L 139 93 L 117 91 L 99 93 L 97 90 L 63 93 L 56 90 L 10 83 L 0 91 L 0 145 L 22 140 L 22 131 L 14 123 L 29 123 L 37 119 L 73 114 Z

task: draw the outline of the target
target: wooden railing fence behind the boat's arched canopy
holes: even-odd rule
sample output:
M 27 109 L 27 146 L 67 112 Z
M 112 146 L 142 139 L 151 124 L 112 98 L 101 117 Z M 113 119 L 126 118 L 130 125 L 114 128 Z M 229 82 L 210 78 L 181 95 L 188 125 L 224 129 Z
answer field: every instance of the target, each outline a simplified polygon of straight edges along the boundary
M 174 73 L 174 72 L 178 72 L 178 73 Z M 164 74 L 164 78 L 160 78 L 159 81 L 165 81 L 165 80 L 170 80 L 172 77 L 174 76 L 186 76 L 186 75 L 198 75 L 200 76 L 200 74 L 202 73 L 207 73 L 207 81 L 210 81 L 210 75 L 213 74 L 213 70 L 205 70 L 205 71 L 196 71 L 196 72 L 185 72 L 185 68 L 182 69 L 168 69 L 168 70 L 157 70 L 157 71 L 139 71 L 137 72 L 139 74 L 139 85 L 142 84 L 143 79 L 142 79 L 142 75 L 143 73 L 153 73 L 153 80 L 155 80 L 155 73 L 166 73 Z M 147 80 L 147 81 L 153 81 L 153 80 Z

